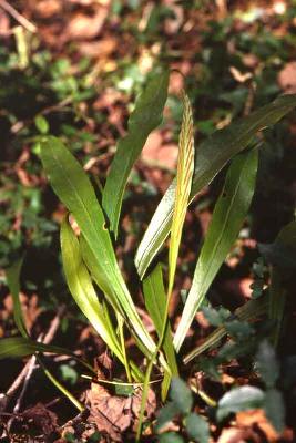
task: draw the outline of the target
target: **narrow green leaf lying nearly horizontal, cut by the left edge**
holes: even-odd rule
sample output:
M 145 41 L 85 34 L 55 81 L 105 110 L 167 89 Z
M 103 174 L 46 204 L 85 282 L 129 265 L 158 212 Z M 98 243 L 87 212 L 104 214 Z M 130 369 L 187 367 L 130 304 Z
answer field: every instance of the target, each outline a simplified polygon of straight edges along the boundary
M 31 356 L 34 352 L 51 352 L 62 356 L 73 356 L 64 348 L 40 343 L 23 337 L 0 339 L 0 359 Z

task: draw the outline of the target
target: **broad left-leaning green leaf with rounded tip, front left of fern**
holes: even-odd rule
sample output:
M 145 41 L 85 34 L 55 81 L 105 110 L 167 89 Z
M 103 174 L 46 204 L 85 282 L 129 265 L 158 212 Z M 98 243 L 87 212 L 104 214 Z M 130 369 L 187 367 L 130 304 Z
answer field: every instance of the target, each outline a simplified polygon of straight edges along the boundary
M 144 328 L 116 262 L 105 219 L 90 179 L 59 138 L 43 137 L 41 161 L 55 194 L 73 214 L 98 269 L 96 284 L 109 300 L 116 300 L 131 331 L 150 354 L 155 343 Z

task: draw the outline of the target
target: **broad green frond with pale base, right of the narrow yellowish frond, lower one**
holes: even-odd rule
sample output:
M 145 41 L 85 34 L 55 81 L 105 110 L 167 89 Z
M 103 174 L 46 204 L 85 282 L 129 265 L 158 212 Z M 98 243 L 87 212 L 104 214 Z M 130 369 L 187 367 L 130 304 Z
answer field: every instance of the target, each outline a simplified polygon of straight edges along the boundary
M 237 155 L 227 172 L 174 337 L 174 347 L 177 351 L 246 217 L 254 195 L 257 163 L 258 152 L 254 148 Z

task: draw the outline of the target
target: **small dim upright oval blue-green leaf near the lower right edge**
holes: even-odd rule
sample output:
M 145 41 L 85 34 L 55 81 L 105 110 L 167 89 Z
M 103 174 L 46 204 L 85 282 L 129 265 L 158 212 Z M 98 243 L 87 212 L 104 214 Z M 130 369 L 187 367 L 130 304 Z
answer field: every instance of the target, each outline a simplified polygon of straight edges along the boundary
M 258 347 L 258 352 L 256 354 L 256 369 L 266 387 L 274 388 L 279 377 L 279 367 L 276 360 L 275 350 L 267 340 L 264 340 Z

